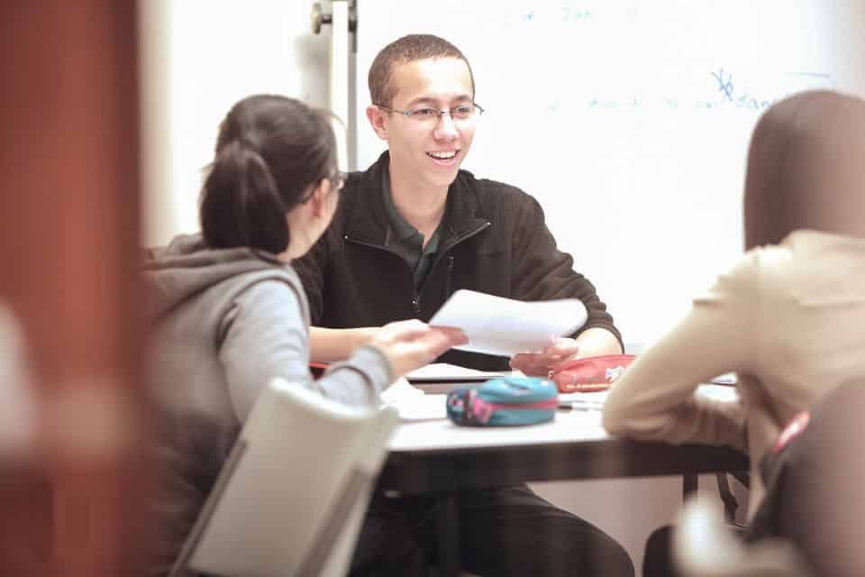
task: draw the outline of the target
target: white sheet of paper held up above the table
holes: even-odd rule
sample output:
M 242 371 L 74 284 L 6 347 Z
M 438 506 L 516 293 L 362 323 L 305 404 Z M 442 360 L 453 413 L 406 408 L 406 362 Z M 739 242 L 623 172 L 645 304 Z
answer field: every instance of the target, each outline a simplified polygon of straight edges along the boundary
M 586 318 L 578 298 L 523 302 L 460 289 L 429 324 L 462 329 L 469 342 L 454 348 L 510 357 L 541 351 L 553 338 L 572 334 Z

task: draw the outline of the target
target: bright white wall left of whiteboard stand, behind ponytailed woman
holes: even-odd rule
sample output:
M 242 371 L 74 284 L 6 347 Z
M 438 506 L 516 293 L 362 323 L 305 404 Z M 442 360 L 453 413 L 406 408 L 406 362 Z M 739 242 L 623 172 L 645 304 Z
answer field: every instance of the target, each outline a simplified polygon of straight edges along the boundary
M 328 101 L 330 27 L 314 35 L 306 0 L 146 0 L 143 242 L 198 230 L 202 172 L 218 125 L 243 96 Z

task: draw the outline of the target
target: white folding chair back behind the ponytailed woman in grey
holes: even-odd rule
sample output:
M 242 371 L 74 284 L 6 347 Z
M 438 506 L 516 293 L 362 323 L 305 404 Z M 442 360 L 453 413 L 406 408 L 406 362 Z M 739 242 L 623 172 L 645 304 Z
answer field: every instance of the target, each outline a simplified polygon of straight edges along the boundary
M 344 575 L 397 421 L 273 380 L 170 574 Z

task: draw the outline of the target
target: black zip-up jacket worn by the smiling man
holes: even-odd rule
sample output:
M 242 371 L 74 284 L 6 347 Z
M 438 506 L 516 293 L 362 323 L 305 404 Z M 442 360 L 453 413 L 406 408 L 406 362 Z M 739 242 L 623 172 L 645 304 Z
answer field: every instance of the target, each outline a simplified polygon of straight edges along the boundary
M 519 188 L 475 179 L 460 170 L 448 191 L 442 237 L 422 288 L 390 243 L 382 200 L 384 152 L 368 170 L 353 172 L 340 206 L 322 238 L 294 261 L 303 280 L 314 326 L 380 326 L 419 318 L 428 321 L 457 289 L 518 300 L 579 298 L 588 320 L 619 336 L 595 287 L 556 249 L 538 202 Z M 621 341 L 621 338 L 620 338 Z M 508 359 L 450 351 L 438 362 L 484 371 L 507 369 Z

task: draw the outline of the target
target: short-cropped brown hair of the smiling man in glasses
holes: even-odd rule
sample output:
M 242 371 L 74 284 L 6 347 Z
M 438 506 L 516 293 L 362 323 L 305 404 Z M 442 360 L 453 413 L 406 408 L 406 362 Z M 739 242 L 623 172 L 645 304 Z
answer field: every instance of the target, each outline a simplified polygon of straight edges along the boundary
M 401 64 L 415 60 L 437 58 L 455 58 L 462 60 L 469 67 L 471 78 L 471 96 L 475 96 L 475 76 L 471 71 L 469 60 L 462 51 L 451 42 L 433 36 L 432 34 L 409 34 L 391 42 L 376 56 L 369 67 L 369 97 L 376 105 L 389 106 L 396 96 L 396 86 L 393 82 L 394 69 Z

